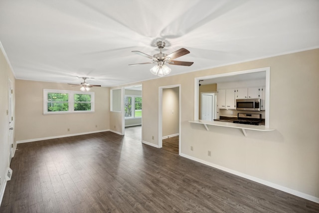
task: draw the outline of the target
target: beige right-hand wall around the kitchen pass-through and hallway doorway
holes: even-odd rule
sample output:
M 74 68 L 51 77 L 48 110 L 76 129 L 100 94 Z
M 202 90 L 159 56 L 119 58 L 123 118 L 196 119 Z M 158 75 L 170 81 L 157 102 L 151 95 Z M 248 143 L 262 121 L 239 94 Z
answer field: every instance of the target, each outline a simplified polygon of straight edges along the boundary
M 270 128 L 275 131 L 247 130 L 245 137 L 240 129 L 213 126 L 206 131 L 188 122 L 194 117 L 194 77 L 261 67 L 271 67 Z M 159 87 L 181 84 L 182 155 L 319 201 L 318 82 L 319 49 L 144 81 L 143 141 L 158 145 Z

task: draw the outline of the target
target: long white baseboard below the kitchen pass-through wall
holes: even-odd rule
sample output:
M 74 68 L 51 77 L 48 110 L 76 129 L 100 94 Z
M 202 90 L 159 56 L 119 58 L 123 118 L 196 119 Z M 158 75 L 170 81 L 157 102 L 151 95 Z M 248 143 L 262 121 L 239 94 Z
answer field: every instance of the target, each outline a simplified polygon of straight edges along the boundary
M 290 188 L 287 188 L 287 187 L 280 186 L 278 184 L 274 184 L 274 183 L 271 183 L 271 182 L 268 182 L 268 181 L 265 181 L 265 180 L 250 176 L 250 175 L 246 175 L 244 173 L 237 172 L 235 170 L 231 170 L 231 169 L 228 169 L 226 167 L 222 167 L 222 166 L 219 166 L 219 165 L 207 162 L 207 161 L 203 161 L 201 159 L 194 158 L 194 157 L 189 156 L 189 155 L 185 155 L 185 154 L 180 153 L 180 156 L 182 156 L 184 158 L 188 158 L 188 159 L 196 161 L 196 162 L 199 162 L 199 163 L 202 163 L 202 164 L 205 164 L 207 166 L 214 167 L 216 169 L 231 173 L 233 175 L 237 175 L 239 177 L 246 178 L 248 180 L 251 180 L 251 181 L 266 185 L 268 187 L 271 187 L 271 188 L 274 188 L 274 189 L 277 189 L 277 190 L 280 190 L 280 191 L 283 191 L 283 192 L 298 196 L 300 198 L 304 198 L 304 199 L 307 199 L 309 201 L 313 201 L 315 203 L 319 203 L 319 198 L 317 198 L 315 196 L 311 196 L 311 195 L 308 195 L 308 194 L 305 194 L 305 193 L 302 193 L 302 192 L 299 192 L 299 191 L 296 191 L 296 190 L 293 190 L 293 189 L 290 189 Z

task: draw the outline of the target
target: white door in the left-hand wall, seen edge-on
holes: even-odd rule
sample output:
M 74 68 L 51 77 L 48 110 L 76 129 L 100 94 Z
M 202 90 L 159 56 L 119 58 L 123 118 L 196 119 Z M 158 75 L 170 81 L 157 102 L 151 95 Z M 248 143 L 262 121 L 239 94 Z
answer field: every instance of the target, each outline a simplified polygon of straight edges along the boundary
M 9 164 L 13 157 L 13 90 L 12 90 L 12 82 L 10 79 L 8 80 L 8 149 L 9 149 Z M 9 166 L 9 165 L 8 165 Z

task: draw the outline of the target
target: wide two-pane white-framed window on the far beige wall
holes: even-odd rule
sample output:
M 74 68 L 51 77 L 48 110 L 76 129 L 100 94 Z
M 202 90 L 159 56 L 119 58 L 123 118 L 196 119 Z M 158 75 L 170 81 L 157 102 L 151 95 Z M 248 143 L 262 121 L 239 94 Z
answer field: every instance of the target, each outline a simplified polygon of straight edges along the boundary
M 94 112 L 94 92 L 43 90 L 43 114 Z

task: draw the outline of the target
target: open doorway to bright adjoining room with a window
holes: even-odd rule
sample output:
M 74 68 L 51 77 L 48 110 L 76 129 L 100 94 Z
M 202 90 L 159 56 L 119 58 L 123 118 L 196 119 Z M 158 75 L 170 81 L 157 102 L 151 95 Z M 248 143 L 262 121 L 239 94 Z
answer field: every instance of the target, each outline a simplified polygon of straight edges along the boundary
M 142 142 L 142 85 L 124 88 L 124 135 Z

